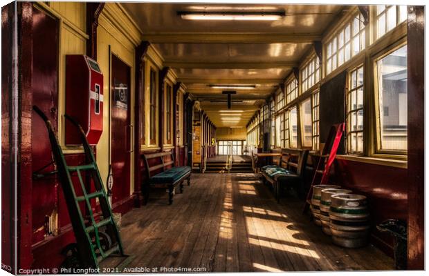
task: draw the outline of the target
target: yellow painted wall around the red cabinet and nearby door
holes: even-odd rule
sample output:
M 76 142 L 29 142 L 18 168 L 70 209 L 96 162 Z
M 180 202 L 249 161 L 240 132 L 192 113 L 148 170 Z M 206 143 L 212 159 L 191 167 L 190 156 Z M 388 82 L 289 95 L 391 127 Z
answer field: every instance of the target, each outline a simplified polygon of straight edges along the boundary
M 59 76 L 59 104 L 60 115 L 58 137 L 64 153 L 83 152 L 81 147 L 64 145 L 64 115 L 65 112 L 65 73 L 66 55 L 85 55 L 86 39 L 86 4 L 83 2 L 39 2 L 37 8 L 45 10 L 60 21 L 60 76 Z M 141 32 L 136 24 L 131 21 L 129 15 L 118 3 L 106 3 L 99 18 L 98 26 L 98 57 L 100 68 L 104 76 L 104 108 L 103 108 L 103 133 L 97 145 L 97 164 L 102 179 L 107 179 L 109 170 L 109 46 L 111 53 L 117 55 L 122 61 L 131 67 L 131 124 L 134 125 L 134 59 L 135 48 L 141 41 Z M 134 134 L 131 135 L 134 137 Z M 133 140 L 131 137 L 131 141 Z M 134 141 L 133 141 L 134 142 Z M 131 176 L 134 174 L 134 152 L 131 153 Z M 130 193 L 134 190 L 134 177 L 131 177 Z

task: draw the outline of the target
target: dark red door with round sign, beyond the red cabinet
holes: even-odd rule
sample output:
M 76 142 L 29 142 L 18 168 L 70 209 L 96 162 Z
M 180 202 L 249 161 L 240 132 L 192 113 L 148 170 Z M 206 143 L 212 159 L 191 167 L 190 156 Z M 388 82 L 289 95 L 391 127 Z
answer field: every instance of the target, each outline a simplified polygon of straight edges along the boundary
M 130 68 L 111 55 L 111 168 L 112 203 L 129 197 L 130 180 Z

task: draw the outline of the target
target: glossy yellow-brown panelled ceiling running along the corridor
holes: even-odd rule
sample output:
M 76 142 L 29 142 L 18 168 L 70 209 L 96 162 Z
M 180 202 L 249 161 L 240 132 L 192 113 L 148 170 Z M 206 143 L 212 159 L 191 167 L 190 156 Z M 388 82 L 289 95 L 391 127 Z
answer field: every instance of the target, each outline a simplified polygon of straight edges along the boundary
M 199 3 L 121 3 L 161 53 L 165 66 L 201 102 L 217 127 L 246 126 L 249 119 L 320 40 L 343 6 Z M 184 20 L 179 11 L 285 12 L 277 21 Z M 253 85 L 232 95 L 209 85 Z

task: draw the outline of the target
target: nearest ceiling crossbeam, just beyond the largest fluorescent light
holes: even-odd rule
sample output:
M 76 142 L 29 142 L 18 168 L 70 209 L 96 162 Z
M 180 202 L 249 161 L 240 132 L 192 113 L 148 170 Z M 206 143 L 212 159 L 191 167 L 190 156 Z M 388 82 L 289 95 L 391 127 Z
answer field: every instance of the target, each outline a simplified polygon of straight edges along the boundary
M 157 32 L 143 35 L 152 43 L 312 43 L 320 34 L 283 34 L 267 32 Z

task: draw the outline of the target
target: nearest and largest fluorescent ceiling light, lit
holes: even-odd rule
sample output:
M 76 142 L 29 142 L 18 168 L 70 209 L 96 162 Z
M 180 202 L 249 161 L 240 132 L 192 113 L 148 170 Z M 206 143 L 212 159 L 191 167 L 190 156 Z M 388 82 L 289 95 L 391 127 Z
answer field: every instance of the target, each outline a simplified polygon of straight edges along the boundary
M 285 12 L 177 12 L 185 20 L 246 20 L 275 21 L 282 19 Z

